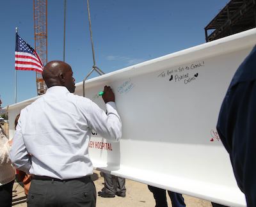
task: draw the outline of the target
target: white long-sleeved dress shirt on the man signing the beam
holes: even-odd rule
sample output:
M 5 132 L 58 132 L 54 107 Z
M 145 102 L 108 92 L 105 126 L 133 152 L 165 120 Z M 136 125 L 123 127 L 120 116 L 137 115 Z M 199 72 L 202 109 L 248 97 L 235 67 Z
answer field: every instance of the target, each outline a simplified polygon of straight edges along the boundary
M 106 108 L 108 114 L 64 86 L 47 89 L 20 112 L 10 151 L 13 164 L 28 174 L 62 180 L 93 174 L 88 155 L 92 130 L 113 142 L 122 136 L 115 102 Z

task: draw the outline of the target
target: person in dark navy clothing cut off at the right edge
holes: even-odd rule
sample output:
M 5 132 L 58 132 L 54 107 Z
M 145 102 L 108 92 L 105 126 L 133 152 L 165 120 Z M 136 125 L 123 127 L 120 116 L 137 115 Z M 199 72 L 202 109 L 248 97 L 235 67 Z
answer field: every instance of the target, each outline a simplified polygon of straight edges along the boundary
M 217 130 L 248 206 L 256 206 L 256 47 L 230 83 Z

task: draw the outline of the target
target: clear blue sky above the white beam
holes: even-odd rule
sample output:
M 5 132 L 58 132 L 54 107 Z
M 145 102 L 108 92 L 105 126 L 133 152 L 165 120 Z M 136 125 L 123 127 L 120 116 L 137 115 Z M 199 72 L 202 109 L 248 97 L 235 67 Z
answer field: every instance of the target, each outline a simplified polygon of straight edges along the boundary
M 89 0 L 95 65 L 104 73 L 205 43 L 204 27 L 229 1 Z M 47 1 L 48 61 L 63 61 L 64 0 Z M 15 27 L 35 49 L 33 0 L 0 0 L 0 95 L 15 103 Z M 67 0 L 65 62 L 77 82 L 92 70 L 86 0 Z M 98 74 L 93 72 L 90 78 Z M 17 102 L 33 98 L 36 72 L 17 71 Z

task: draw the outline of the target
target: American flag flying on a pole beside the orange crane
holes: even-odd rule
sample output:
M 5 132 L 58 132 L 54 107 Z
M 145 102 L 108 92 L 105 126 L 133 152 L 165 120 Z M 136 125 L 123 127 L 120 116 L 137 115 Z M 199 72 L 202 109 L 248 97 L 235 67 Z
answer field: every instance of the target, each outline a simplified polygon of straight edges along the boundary
M 41 72 L 44 70 L 44 64 L 40 57 L 30 45 L 16 33 L 15 46 L 15 70 L 35 70 Z

